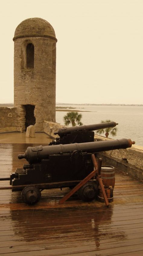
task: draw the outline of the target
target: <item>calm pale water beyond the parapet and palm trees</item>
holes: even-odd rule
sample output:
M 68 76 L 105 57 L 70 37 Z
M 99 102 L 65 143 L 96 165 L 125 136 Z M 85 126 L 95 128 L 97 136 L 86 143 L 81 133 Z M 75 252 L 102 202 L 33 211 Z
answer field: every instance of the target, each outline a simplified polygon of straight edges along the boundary
M 136 145 L 143 146 L 143 107 L 86 105 L 71 105 L 71 107 L 75 107 L 77 110 L 92 111 L 81 112 L 81 121 L 84 125 L 97 124 L 100 123 L 101 120 L 110 119 L 119 123 L 119 125 L 117 125 L 118 132 L 117 136 L 114 137 L 115 139 L 131 138 L 136 142 Z M 63 116 L 66 113 L 67 112 L 57 111 L 56 122 L 63 125 Z M 109 137 L 113 138 L 111 135 L 109 135 Z

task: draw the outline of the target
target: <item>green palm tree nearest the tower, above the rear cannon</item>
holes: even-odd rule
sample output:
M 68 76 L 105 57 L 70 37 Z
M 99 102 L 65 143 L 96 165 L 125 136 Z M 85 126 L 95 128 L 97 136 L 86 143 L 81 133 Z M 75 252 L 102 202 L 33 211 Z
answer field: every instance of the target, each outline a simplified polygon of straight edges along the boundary
M 82 114 L 78 114 L 78 112 L 68 112 L 63 117 L 64 124 L 66 126 L 68 126 L 70 123 L 72 124 L 72 126 L 76 126 L 76 123 L 77 125 L 83 125 L 83 123 L 81 123 L 81 118 L 82 118 Z

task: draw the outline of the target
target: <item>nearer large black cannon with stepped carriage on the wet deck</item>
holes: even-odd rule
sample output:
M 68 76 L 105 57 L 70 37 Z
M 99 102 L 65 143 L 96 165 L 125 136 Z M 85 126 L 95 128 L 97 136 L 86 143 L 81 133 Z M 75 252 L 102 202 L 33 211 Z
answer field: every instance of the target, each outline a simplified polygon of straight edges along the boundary
M 130 139 L 117 139 L 101 142 L 73 143 L 66 145 L 50 145 L 28 147 L 18 158 L 25 158 L 28 164 L 23 169 L 16 169 L 10 176 L 13 191 L 21 190 L 22 199 L 27 204 L 40 200 L 40 188 L 70 187 L 77 185 L 94 170 L 91 155 L 96 152 L 129 148 L 134 144 Z M 89 184 L 90 183 L 90 184 Z M 91 180 L 86 189 L 87 194 L 81 199 L 93 200 L 98 193 L 95 180 Z M 92 183 L 92 184 L 91 184 Z M 84 192 L 85 192 L 84 191 Z M 89 196 L 92 194 L 92 197 Z

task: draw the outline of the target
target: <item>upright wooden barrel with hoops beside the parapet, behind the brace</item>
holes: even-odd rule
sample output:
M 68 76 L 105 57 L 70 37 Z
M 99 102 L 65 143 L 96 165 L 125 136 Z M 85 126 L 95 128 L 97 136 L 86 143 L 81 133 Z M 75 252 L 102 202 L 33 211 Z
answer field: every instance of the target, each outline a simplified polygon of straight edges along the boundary
M 115 169 L 113 166 L 103 165 L 101 167 L 101 179 L 104 186 L 115 186 Z

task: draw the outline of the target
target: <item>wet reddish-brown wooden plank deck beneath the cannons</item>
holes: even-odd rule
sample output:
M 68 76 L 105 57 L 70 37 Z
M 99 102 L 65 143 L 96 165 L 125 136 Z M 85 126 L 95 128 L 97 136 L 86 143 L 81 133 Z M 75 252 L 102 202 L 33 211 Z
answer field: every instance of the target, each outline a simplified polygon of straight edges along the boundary
M 0 144 L 0 177 L 8 177 L 25 159 L 27 144 Z M 1 181 L 2 186 L 9 185 Z M 116 170 L 114 202 L 84 203 L 69 189 L 42 192 L 35 206 L 22 203 L 20 192 L 0 190 L 0 255 L 143 255 L 143 183 Z

